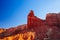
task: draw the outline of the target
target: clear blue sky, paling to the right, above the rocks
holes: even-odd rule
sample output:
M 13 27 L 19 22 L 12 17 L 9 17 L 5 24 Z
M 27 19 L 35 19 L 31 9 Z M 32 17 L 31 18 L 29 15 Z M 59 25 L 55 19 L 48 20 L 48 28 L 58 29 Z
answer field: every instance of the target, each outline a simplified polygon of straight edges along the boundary
M 47 13 L 60 12 L 60 0 L 0 0 L 0 28 L 26 24 L 30 10 L 45 19 Z

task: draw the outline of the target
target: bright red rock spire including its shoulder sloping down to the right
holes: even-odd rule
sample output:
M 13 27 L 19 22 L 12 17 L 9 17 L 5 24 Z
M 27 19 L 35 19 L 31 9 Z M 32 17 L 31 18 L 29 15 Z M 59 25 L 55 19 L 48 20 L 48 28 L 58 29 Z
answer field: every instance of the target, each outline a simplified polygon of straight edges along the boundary
M 31 27 L 37 27 L 37 26 L 41 26 L 44 24 L 44 20 L 36 17 L 34 15 L 34 12 L 31 10 L 30 13 L 28 14 L 28 19 L 27 19 L 27 26 L 29 28 Z

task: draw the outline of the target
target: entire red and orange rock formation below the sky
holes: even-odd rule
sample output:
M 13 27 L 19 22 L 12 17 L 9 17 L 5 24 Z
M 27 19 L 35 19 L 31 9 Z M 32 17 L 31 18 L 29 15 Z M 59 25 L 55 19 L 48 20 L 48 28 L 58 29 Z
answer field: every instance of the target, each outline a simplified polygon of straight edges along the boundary
M 60 13 L 49 13 L 42 20 L 31 10 L 27 24 L 0 29 L 0 40 L 60 40 Z

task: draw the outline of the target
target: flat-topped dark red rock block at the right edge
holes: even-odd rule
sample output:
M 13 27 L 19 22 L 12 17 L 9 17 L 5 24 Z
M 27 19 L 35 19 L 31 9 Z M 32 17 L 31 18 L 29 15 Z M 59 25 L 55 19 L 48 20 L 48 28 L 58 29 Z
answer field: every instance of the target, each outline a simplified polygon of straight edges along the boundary
M 49 13 L 46 16 L 46 22 L 49 26 L 60 27 L 60 13 Z

